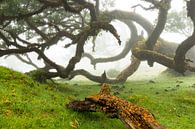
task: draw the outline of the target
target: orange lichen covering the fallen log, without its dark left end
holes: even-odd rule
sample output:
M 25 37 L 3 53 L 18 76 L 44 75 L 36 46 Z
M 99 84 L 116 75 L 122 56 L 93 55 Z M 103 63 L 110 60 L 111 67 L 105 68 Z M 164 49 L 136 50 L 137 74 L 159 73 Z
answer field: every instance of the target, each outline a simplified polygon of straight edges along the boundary
M 95 102 L 103 112 L 116 111 L 117 116 L 129 127 L 136 129 L 165 129 L 146 109 L 110 94 L 110 85 L 103 84 L 99 94 L 86 100 Z

